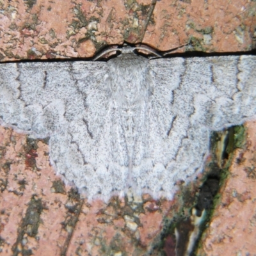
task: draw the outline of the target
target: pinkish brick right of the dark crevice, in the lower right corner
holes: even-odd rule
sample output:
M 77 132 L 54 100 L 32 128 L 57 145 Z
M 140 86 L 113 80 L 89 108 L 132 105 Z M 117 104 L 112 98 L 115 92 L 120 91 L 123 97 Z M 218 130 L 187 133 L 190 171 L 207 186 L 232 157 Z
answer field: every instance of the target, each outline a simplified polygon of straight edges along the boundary
M 256 252 L 256 122 L 246 123 L 246 127 L 246 150 L 236 150 L 198 255 Z

